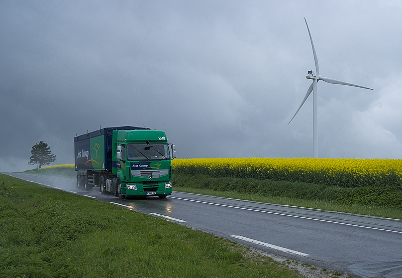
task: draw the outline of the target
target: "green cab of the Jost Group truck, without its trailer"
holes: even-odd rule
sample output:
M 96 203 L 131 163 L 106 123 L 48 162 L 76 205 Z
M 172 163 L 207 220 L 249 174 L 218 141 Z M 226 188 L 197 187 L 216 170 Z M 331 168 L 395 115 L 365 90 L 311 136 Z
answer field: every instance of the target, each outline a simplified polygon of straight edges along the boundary
M 164 131 L 115 130 L 116 167 L 112 172 L 119 177 L 119 197 L 159 196 L 172 194 L 172 165 L 175 147 L 168 144 Z

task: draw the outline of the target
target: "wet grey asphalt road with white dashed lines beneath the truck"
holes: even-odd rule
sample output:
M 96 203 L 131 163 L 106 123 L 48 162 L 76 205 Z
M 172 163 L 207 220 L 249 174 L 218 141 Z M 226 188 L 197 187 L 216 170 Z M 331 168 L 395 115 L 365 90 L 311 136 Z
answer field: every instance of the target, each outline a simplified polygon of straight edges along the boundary
M 358 277 L 402 277 L 402 221 L 173 192 L 161 200 L 119 199 L 74 179 L 4 173 L 200 229 L 265 252 Z M 173 189 L 174 190 L 174 189 Z

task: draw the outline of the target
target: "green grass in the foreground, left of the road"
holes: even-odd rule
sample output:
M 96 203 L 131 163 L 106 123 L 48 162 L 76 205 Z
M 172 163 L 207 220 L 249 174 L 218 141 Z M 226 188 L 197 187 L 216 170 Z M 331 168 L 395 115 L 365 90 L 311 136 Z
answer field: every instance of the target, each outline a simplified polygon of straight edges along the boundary
M 1 277 L 298 277 L 237 243 L 0 175 Z

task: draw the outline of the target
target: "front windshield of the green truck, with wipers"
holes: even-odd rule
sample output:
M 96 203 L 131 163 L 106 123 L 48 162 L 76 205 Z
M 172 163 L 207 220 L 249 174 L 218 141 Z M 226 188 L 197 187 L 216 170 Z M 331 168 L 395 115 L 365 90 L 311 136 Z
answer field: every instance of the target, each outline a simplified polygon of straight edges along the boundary
M 132 143 L 127 144 L 128 160 L 169 160 L 170 153 L 166 143 Z

